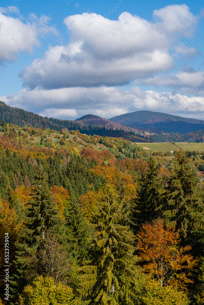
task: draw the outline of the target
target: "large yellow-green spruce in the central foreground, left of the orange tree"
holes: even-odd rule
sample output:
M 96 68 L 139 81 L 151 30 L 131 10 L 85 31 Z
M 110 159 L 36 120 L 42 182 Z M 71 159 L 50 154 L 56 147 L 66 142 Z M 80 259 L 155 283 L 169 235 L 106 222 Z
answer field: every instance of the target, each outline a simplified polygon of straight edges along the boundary
M 87 304 L 135 304 L 143 289 L 143 277 L 133 255 L 134 235 L 120 224 L 125 217 L 114 188 L 101 190 L 94 222 L 95 238 L 90 251 L 91 260 L 81 268 L 80 293 Z M 85 302 L 85 303 L 86 303 Z

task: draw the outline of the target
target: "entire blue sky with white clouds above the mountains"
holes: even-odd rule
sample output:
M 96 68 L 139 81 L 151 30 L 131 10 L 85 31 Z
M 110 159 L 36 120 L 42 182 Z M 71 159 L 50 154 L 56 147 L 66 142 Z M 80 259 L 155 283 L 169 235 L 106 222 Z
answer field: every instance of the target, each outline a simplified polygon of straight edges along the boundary
M 0 100 L 43 116 L 204 119 L 203 1 L 1 1 Z

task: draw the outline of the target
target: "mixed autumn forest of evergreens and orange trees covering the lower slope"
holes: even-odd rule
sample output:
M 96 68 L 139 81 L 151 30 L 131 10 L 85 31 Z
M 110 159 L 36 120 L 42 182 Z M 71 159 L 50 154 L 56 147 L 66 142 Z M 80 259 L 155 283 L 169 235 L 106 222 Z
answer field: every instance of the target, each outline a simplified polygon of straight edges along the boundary
M 203 170 L 204 152 L 2 121 L 0 304 L 203 304 Z

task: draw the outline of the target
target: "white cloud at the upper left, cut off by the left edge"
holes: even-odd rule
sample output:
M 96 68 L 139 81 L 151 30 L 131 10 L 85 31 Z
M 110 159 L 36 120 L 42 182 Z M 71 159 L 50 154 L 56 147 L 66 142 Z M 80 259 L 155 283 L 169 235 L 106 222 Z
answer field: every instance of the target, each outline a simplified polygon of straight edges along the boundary
M 39 37 L 48 32 L 57 35 L 47 16 L 37 18 L 31 14 L 29 20 L 24 23 L 19 17 L 14 18 L 6 13 L 19 15 L 19 10 L 16 6 L 0 9 L 0 63 L 13 61 L 24 51 L 32 52 L 34 46 L 40 46 Z

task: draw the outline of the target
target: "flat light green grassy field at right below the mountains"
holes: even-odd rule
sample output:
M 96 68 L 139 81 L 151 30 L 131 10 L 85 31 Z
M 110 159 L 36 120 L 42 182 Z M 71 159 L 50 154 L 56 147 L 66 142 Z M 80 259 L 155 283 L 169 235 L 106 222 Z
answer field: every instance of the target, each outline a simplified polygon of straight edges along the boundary
M 166 152 L 170 150 L 176 150 L 181 147 L 183 150 L 189 150 L 189 151 L 204 151 L 204 143 L 136 143 L 137 145 L 141 147 L 148 147 L 151 149 L 152 152 Z M 176 146 L 177 145 L 177 146 Z M 178 147 L 179 146 L 179 147 Z

